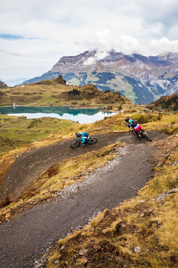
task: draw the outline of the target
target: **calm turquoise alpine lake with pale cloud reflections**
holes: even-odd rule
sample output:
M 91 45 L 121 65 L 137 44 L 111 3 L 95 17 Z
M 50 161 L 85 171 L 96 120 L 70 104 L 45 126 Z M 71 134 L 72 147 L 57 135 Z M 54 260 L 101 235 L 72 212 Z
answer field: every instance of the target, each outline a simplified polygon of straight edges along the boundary
M 69 119 L 72 121 L 78 120 L 80 124 L 93 123 L 95 121 L 103 119 L 105 116 L 112 116 L 116 113 L 101 112 L 100 108 L 77 108 L 69 109 L 70 107 L 58 106 L 58 107 L 32 107 L 32 106 L 15 106 L 15 107 L 0 107 L 2 114 L 8 114 L 9 116 L 26 116 L 30 118 L 40 117 L 55 117 L 59 119 Z

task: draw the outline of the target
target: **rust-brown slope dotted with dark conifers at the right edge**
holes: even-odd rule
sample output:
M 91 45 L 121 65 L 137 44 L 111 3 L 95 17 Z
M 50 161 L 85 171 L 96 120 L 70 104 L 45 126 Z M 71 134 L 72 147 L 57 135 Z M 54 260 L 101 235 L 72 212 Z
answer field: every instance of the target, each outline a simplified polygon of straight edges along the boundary
M 161 109 L 161 110 L 168 111 L 168 112 L 177 111 L 178 110 L 178 94 L 172 94 L 170 96 L 161 97 L 160 99 L 150 103 L 146 107 L 151 110 Z

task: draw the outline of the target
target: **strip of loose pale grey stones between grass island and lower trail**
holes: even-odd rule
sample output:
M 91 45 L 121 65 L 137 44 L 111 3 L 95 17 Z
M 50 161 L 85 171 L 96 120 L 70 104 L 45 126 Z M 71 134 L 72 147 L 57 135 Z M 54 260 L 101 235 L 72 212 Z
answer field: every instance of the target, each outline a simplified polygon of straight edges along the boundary
M 105 166 L 102 168 L 100 168 L 100 166 L 98 166 L 98 168 L 94 172 L 91 172 L 90 174 L 86 175 L 84 177 L 84 180 L 78 181 L 75 184 L 71 184 L 64 189 L 55 192 L 55 194 L 53 196 L 58 198 L 58 199 L 63 200 L 63 199 L 67 199 L 71 194 L 77 193 L 79 190 L 85 189 L 85 187 L 87 187 L 88 184 L 91 184 L 93 180 L 98 179 L 98 177 L 101 174 L 107 173 L 110 170 L 114 169 L 114 167 L 116 165 L 118 165 L 118 163 L 120 162 L 121 156 L 128 153 L 127 147 L 128 146 L 119 147 L 119 148 L 115 147 L 115 150 L 116 150 L 115 154 L 117 156 L 113 157 L 112 161 L 108 161 L 105 164 Z

